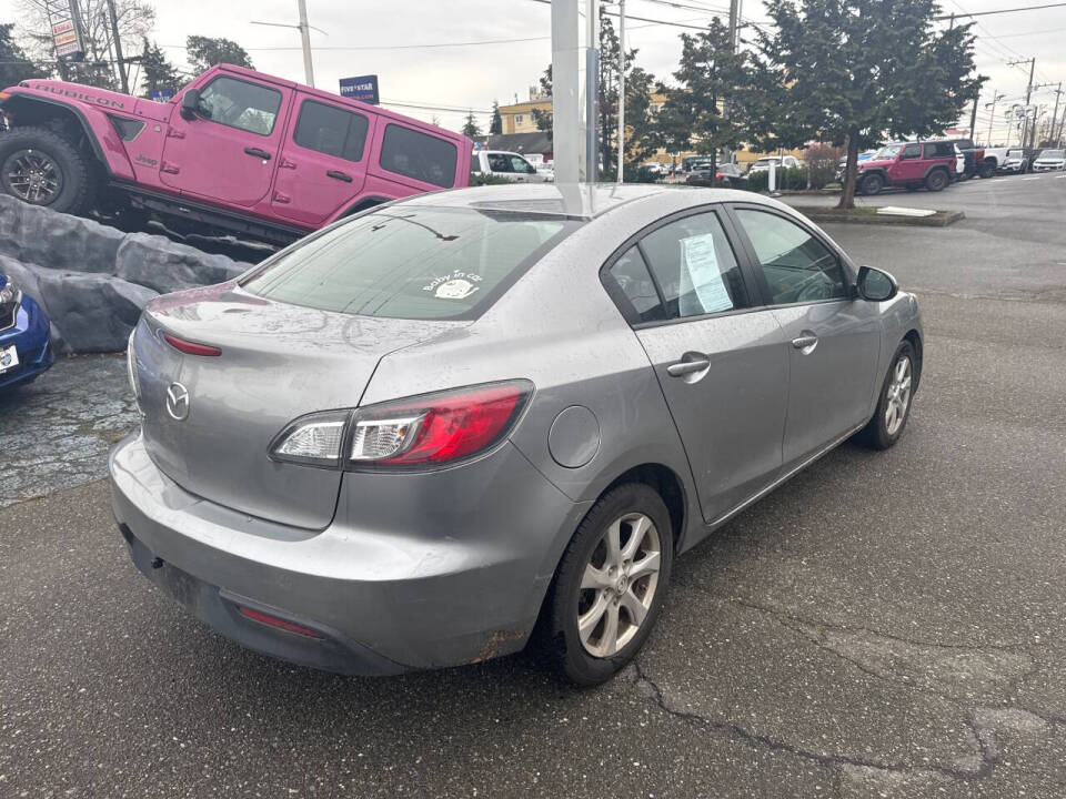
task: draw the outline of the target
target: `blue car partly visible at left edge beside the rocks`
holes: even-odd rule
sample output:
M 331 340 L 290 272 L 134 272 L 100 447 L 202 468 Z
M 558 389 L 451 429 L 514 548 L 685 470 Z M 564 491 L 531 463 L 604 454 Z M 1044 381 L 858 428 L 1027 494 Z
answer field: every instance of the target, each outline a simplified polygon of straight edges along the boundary
M 56 362 L 48 317 L 0 274 L 0 388 L 29 383 Z

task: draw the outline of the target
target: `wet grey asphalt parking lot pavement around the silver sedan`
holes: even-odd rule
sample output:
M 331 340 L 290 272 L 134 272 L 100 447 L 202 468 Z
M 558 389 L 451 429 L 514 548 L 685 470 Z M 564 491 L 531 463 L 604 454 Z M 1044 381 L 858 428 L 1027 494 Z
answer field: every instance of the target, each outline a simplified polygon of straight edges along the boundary
M 967 214 L 827 226 L 919 295 L 903 441 L 842 446 L 681 558 L 592 690 L 527 656 L 351 679 L 242 650 L 114 530 L 121 360 L 3 398 L 0 796 L 1066 795 L 1066 176 L 891 204 Z

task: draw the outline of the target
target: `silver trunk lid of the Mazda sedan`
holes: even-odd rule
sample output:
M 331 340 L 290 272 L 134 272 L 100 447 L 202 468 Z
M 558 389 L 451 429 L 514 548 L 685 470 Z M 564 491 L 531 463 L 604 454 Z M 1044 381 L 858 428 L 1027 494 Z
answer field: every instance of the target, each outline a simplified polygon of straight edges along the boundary
M 467 324 L 318 311 L 233 283 L 159 297 L 134 337 L 148 452 L 197 496 L 320 529 L 333 518 L 341 473 L 271 461 L 274 436 L 298 416 L 356 406 L 384 355 Z M 181 353 L 165 333 L 221 355 Z M 171 388 L 188 392 L 183 419 L 168 412 Z

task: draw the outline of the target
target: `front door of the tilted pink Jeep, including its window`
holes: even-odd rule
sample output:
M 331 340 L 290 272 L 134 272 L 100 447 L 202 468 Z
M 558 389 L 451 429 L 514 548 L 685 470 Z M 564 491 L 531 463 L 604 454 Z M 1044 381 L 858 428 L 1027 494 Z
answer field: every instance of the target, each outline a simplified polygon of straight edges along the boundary
M 217 72 L 200 87 L 192 119 L 174 113 L 160 181 L 194 198 L 251 208 L 266 198 L 292 90 Z

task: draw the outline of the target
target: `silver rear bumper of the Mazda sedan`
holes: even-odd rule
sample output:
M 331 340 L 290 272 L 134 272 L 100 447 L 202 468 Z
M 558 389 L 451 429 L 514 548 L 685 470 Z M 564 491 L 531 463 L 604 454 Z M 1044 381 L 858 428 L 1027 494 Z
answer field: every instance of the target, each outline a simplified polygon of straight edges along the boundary
M 454 666 L 521 649 L 587 509 L 510 444 L 450 469 L 473 469 L 472 479 L 510 492 L 474 503 L 476 488 L 453 496 L 454 505 L 470 506 L 462 528 L 420 495 L 441 487 L 425 482 L 440 474 L 392 475 L 411 492 L 406 507 L 373 479 L 365 493 L 342 489 L 333 524 L 313 532 L 189 494 L 155 466 L 140 434 L 112 451 L 110 468 L 114 516 L 145 576 L 243 646 L 344 674 Z M 383 508 L 392 512 L 394 530 L 381 529 Z M 413 519 L 421 529 L 411 529 Z M 248 610 L 314 635 L 263 624 Z

